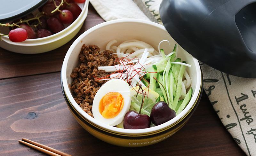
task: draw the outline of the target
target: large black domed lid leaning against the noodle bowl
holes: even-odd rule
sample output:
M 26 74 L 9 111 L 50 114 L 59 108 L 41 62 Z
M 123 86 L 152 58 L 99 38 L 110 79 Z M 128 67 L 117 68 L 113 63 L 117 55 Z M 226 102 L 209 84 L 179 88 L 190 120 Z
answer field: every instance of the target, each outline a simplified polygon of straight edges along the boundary
M 256 0 L 163 0 L 161 20 L 188 53 L 224 73 L 256 78 Z

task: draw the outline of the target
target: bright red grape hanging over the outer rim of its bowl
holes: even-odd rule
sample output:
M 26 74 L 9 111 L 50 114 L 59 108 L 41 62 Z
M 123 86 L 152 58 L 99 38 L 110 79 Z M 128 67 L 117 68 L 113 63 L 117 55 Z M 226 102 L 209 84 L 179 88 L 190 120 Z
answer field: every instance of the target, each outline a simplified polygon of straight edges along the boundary
M 12 42 L 22 42 L 28 38 L 28 32 L 23 28 L 16 28 L 9 32 L 9 39 Z

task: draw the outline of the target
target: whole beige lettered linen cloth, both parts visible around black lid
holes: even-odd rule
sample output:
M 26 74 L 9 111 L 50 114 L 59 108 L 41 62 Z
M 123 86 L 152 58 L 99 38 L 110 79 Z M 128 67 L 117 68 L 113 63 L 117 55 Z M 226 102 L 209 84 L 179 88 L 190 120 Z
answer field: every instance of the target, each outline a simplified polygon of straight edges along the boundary
M 162 24 L 162 0 L 90 0 L 108 21 L 122 18 Z M 256 155 L 256 79 L 232 76 L 200 62 L 204 90 L 225 128 L 247 155 Z

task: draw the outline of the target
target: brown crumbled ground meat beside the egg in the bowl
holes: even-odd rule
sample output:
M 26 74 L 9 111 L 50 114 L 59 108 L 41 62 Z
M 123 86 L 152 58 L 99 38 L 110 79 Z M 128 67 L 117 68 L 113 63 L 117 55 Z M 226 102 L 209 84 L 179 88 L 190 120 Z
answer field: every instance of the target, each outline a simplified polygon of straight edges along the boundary
M 99 81 L 96 78 L 111 74 L 106 73 L 104 70 L 98 70 L 98 66 L 116 65 L 117 55 L 112 53 L 109 50 L 100 52 L 100 48 L 96 45 L 83 45 L 79 54 L 79 65 L 70 75 L 74 79 L 70 87 L 71 91 L 74 92 L 76 103 L 92 117 L 94 96 L 106 82 Z

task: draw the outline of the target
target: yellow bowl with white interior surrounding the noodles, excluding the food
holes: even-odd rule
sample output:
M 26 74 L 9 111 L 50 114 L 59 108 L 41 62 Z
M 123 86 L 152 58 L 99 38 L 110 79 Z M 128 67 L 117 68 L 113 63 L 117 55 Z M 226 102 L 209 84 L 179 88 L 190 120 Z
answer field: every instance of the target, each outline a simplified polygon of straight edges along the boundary
M 164 51 L 172 51 L 174 45 L 177 44 L 164 26 L 146 20 L 116 19 L 88 29 L 70 46 L 61 69 L 62 92 L 70 112 L 84 129 L 109 144 L 124 147 L 140 147 L 167 139 L 185 125 L 201 98 L 203 78 L 198 60 L 178 45 L 177 56 L 182 60 L 186 60 L 191 65 L 188 68 L 188 74 L 191 77 L 191 87 L 193 89 L 190 102 L 180 114 L 172 120 L 155 127 L 147 129 L 121 129 L 97 121 L 85 113 L 74 100 L 74 95 L 69 88 L 73 81 L 70 74 L 78 66 L 78 55 L 83 44 L 94 44 L 99 46 L 101 50 L 104 50 L 107 43 L 113 39 L 116 39 L 118 43 L 129 39 L 137 39 L 152 45 L 156 50 L 158 49 L 158 43 L 162 40 L 168 40 L 170 46 L 168 43 L 161 44 L 161 49 L 164 49 Z

